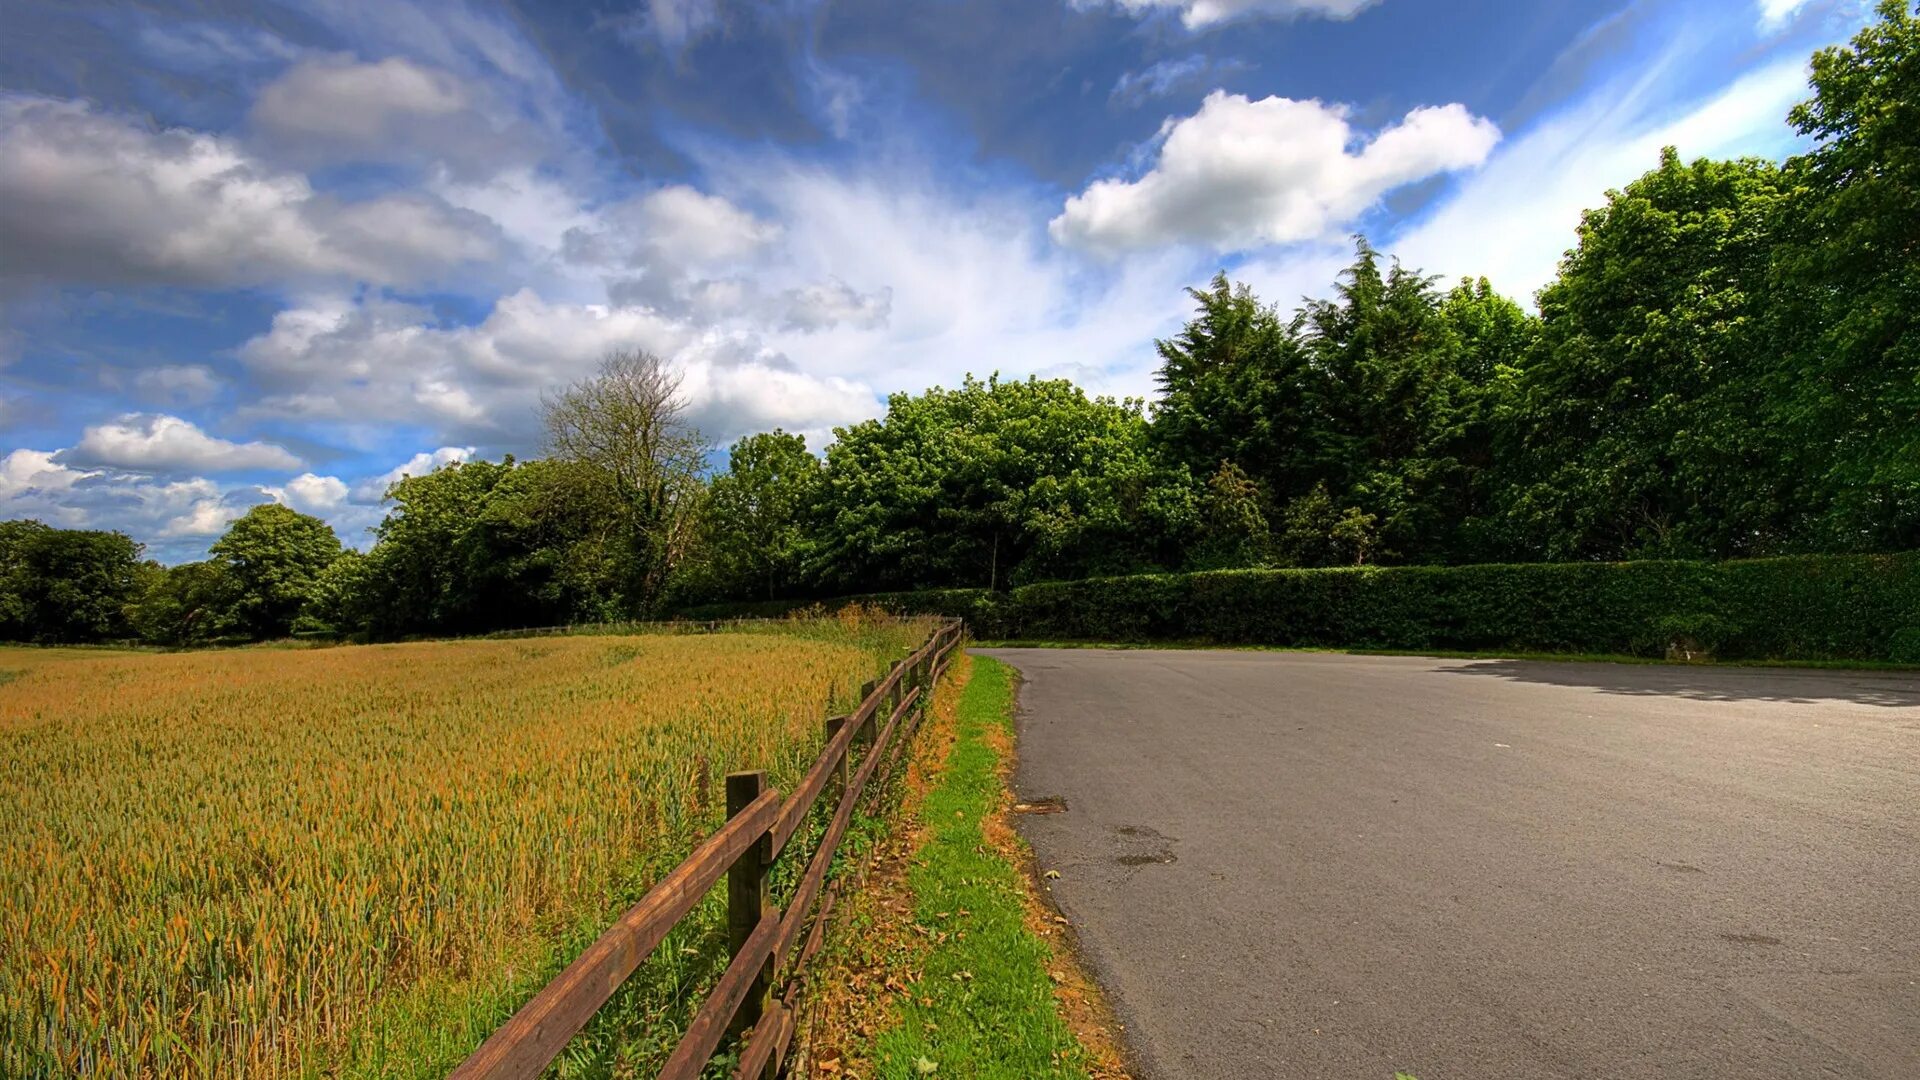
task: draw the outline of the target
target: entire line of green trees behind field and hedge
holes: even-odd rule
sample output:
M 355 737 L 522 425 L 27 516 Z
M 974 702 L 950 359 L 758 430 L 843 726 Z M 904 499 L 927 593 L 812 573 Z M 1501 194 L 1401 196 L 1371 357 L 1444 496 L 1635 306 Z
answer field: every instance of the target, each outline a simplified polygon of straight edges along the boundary
M 547 405 L 549 455 L 405 479 L 369 553 L 257 507 L 205 563 L 10 523 L 0 634 L 198 642 L 599 621 L 714 600 L 1196 569 L 1920 548 L 1920 19 L 1812 60 L 1784 163 L 1659 165 L 1538 313 L 1361 240 L 1296 311 L 1225 275 L 1160 398 L 968 379 L 708 471 L 653 357 Z

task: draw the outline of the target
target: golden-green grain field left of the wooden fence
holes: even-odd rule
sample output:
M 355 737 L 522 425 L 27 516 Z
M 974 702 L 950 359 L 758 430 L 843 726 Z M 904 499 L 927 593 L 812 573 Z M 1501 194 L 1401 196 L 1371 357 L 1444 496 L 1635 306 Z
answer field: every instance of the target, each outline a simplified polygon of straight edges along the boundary
M 0 650 L 0 1074 L 444 1068 L 922 632 Z

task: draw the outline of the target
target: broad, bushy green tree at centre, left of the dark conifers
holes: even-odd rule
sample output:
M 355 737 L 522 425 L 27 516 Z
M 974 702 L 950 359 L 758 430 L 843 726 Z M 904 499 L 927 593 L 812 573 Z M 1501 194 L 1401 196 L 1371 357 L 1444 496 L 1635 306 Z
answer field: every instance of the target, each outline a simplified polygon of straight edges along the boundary
M 968 377 L 835 430 L 814 567 L 828 588 L 1004 588 L 1179 561 L 1192 482 L 1139 402 Z

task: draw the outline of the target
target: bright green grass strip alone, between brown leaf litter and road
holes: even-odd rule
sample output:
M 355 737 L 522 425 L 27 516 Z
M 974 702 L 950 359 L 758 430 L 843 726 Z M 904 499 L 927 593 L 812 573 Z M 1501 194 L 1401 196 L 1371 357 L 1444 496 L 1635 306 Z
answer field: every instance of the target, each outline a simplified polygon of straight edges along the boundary
M 1012 703 L 1010 669 L 973 657 L 958 742 L 920 807 L 927 842 L 908 872 L 916 920 L 948 936 L 927 953 L 899 1026 L 874 1043 L 881 1076 L 1087 1076 L 1087 1051 L 1054 1009 L 1052 953 L 1023 920 L 1020 871 L 981 834 L 1000 798 L 987 734 L 1012 730 Z

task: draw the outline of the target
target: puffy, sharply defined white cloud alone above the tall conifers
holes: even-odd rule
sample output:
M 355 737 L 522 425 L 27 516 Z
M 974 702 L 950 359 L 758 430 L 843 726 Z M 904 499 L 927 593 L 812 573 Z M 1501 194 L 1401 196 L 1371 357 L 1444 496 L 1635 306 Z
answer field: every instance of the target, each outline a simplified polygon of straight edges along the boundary
M 1500 129 L 1455 104 L 1413 110 L 1356 152 L 1357 142 L 1342 106 L 1215 90 L 1200 111 L 1164 125 L 1146 175 L 1094 181 L 1048 229 L 1102 254 L 1319 240 L 1398 186 L 1478 165 Z

